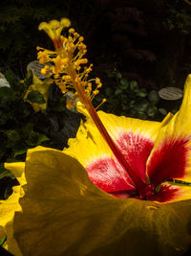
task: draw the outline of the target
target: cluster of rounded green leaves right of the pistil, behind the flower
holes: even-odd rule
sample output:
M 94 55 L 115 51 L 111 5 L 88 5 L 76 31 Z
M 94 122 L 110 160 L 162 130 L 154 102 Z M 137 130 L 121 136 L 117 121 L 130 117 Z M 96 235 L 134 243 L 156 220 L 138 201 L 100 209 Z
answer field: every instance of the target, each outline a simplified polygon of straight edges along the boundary
M 95 100 L 99 104 L 103 98 L 107 99 L 102 106 L 105 111 L 143 120 L 161 120 L 167 114 L 166 109 L 158 106 L 158 91 L 139 88 L 138 81 L 128 81 L 117 71 L 106 73 L 112 78 L 113 86 L 106 84 Z

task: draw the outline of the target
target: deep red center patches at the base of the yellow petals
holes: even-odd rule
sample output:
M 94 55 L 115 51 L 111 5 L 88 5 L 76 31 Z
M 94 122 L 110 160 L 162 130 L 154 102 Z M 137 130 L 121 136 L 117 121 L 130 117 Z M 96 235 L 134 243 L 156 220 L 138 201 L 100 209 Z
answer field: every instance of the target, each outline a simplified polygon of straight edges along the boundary
M 168 139 L 155 151 L 147 163 L 153 142 L 140 134 L 124 132 L 117 140 L 117 147 L 124 155 L 132 170 L 140 177 L 145 186 L 138 190 L 117 158 L 99 158 L 90 164 L 86 170 L 93 183 L 103 191 L 117 198 L 139 198 L 158 201 L 168 201 L 175 198 L 179 190 L 170 185 L 162 184 L 169 178 L 180 178 L 185 174 L 188 154 L 187 138 Z M 147 163 L 147 172 L 146 172 Z M 150 180 L 146 178 L 146 173 Z

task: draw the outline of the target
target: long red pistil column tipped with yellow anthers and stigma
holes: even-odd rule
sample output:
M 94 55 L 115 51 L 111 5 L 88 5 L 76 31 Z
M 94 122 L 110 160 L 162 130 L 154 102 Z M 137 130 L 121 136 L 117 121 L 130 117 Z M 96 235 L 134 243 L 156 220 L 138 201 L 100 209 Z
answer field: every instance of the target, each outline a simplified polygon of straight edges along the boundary
M 49 24 L 45 22 L 40 24 L 39 29 L 43 29 L 47 32 L 52 38 L 55 48 L 54 54 L 47 50 L 44 50 L 44 54 L 41 52 L 38 53 L 38 58 L 41 60 L 41 63 L 47 59 L 54 63 L 52 67 L 45 66 L 42 72 L 44 74 L 53 74 L 53 80 L 60 87 L 62 93 L 70 92 L 76 101 L 79 100 L 81 104 L 84 105 L 95 123 L 96 128 L 98 128 L 103 139 L 116 156 L 117 161 L 122 168 L 126 170 L 132 183 L 135 184 L 138 194 L 144 195 L 145 191 L 150 191 L 149 185 L 146 181 L 141 180 L 126 161 L 124 155 L 118 149 L 117 144 L 102 124 L 96 113 L 96 109 L 92 105 L 92 100 L 99 92 L 98 88 L 102 86 L 102 83 L 98 78 L 88 81 L 88 76 L 92 71 L 93 64 L 89 67 L 86 66 L 88 59 L 83 58 L 87 52 L 86 45 L 83 43 L 83 36 L 75 33 L 74 29 L 69 30 L 68 37 L 60 35 L 62 29 L 69 27 L 69 25 L 70 21 L 67 19 L 61 19 L 60 22 L 53 20 Z M 41 48 L 41 50 L 43 49 Z M 92 81 L 96 82 L 96 88 L 94 90 L 92 90 Z M 74 88 L 75 93 L 71 91 L 71 88 Z M 102 103 L 104 101 L 105 99 L 103 99 Z

